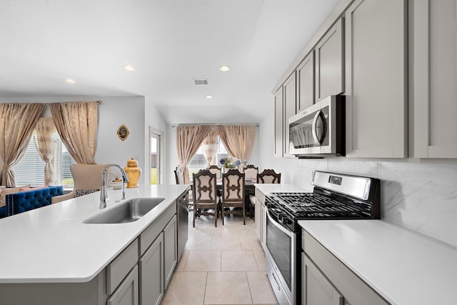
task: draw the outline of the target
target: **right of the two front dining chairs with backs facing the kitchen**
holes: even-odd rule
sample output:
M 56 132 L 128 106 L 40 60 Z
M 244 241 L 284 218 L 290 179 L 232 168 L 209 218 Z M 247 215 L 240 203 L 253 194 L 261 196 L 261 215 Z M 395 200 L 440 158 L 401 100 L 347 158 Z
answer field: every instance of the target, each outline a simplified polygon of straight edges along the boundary
M 222 175 L 221 202 L 222 225 L 224 225 L 224 214 L 242 214 L 243 224 L 246 224 L 244 173 L 240 173 L 238 169 L 230 169 Z M 226 208 L 233 209 L 225 211 Z M 241 211 L 237 211 L 236 208 L 241 208 Z

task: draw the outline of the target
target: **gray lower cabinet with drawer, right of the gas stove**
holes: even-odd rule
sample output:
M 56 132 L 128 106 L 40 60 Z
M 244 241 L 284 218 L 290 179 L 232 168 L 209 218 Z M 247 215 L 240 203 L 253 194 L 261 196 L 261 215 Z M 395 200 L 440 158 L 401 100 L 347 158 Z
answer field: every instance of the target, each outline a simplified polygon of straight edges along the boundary
M 371 286 L 302 230 L 302 300 L 304 305 L 388 305 Z

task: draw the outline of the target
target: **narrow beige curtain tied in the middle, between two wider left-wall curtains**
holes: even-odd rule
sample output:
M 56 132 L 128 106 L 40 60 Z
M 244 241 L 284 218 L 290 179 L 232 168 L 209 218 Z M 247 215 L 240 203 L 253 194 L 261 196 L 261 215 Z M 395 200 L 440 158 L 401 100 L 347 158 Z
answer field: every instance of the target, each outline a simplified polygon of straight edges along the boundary
M 59 134 L 57 134 L 56 125 L 52 118 L 40 118 L 35 126 L 34 142 L 36 151 L 38 151 L 41 160 L 45 162 L 44 165 L 44 184 L 57 185 L 56 174 L 54 173 L 54 152 Z

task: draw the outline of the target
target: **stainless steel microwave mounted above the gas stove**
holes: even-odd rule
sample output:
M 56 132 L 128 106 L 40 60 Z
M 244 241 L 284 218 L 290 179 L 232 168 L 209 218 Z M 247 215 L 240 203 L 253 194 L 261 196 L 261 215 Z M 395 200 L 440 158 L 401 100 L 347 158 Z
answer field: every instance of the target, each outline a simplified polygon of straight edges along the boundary
M 344 156 L 344 96 L 328 96 L 288 119 L 289 154 L 298 158 Z

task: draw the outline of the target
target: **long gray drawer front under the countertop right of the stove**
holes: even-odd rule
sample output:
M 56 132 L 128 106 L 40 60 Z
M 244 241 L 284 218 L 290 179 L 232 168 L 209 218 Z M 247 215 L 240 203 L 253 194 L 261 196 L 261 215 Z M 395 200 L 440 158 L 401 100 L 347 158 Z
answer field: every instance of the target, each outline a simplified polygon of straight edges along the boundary
M 308 232 L 302 230 L 303 249 L 326 278 L 352 305 L 387 305 L 379 294 L 341 263 Z

